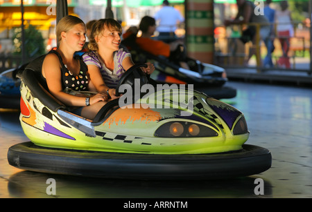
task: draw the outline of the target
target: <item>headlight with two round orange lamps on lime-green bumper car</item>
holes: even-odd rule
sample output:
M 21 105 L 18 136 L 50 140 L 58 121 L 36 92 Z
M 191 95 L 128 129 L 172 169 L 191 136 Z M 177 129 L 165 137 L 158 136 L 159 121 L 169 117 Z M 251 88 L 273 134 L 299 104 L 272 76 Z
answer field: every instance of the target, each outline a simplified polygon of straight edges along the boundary
M 156 137 L 214 137 L 218 133 L 212 128 L 192 122 L 167 122 L 155 131 Z

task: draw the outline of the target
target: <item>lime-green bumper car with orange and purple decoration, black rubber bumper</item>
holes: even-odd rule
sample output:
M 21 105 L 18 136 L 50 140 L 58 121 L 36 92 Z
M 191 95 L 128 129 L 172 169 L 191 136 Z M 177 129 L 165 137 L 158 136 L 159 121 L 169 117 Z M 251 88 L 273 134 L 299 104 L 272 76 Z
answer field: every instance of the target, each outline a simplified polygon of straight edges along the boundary
M 219 179 L 270 168 L 270 151 L 245 144 L 250 133 L 243 113 L 196 90 L 146 93 L 148 79 L 140 66 L 121 77 L 116 90 L 123 95 L 89 120 L 69 113 L 47 91 L 41 68 L 30 64 L 19 76 L 20 122 L 30 141 L 9 148 L 9 164 L 28 171 L 136 180 Z M 135 90 L 138 81 L 140 95 L 128 92 L 132 89 L 121 92 Z

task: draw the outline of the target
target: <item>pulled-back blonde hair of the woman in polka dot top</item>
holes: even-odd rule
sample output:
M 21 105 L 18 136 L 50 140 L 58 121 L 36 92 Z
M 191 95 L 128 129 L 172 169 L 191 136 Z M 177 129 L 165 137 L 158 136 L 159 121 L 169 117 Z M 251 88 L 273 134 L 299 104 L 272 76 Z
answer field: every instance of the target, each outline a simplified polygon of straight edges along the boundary
M 83 20 L 73 15 L 67 15 L 58 21 L 58 24 L 56 25 L 56 39 L 58 41 L 58 46 L 62 40 L 61 33 L 71 30 L 71 28 L 78 23 L 82 23 L 85 26 L 85 22 L 83 22 Z

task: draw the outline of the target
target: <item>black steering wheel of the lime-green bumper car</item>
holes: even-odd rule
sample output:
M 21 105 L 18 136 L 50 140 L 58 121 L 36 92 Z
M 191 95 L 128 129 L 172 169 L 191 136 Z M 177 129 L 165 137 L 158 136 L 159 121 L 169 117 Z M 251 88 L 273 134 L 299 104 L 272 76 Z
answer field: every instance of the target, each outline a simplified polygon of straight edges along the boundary
M 120 78 L 119 83 L 116 86 L 116 96 L 123 94 L 119 92 L 119 88 L 123 84 L 129 84 L 132 89 L 135 87 L 135 79 L 140 79 L 140 87 L 144 84 L 148 84 L 148 77 L 146 76 L 146 73 L 144 73 L 143 70 L 141 70 L 141 67 L 147 68 L 146 64 L 135 64 L 134 66 L 131 66 Z

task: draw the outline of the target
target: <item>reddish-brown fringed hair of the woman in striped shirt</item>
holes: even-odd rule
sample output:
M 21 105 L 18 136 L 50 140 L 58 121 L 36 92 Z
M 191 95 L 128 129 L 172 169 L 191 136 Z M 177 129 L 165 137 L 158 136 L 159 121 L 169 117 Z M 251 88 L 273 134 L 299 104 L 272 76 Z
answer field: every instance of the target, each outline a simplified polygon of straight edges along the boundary
M 103 36 L 102 35 L 103 30 L 117 31 L 119 32 L 120 35 L 123 32 L 120 23 L 115 19 L 99 19 L 92 26 L 91 35 L 89 37 L 89 45 L 88 45 L 89 50 L 93 51 L 98 50 L 96 38 L 99 36 Z

